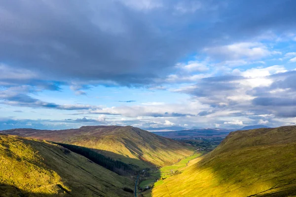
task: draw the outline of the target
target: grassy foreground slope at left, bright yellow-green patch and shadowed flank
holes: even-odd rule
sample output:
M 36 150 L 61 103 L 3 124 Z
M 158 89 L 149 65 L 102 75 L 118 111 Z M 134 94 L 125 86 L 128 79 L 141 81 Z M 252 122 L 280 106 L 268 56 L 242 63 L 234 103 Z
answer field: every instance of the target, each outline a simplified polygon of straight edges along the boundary
M 46 141 L 0 135 L 0 196 L 132 197 L 134 181 Z

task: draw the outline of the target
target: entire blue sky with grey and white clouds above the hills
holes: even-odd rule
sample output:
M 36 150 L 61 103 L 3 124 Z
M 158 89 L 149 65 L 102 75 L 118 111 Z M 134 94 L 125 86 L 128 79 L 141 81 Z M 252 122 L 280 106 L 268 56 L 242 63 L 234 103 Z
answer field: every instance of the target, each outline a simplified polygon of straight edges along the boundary
M 296 124 L 294 0 L 0 1 L 0 130 Z

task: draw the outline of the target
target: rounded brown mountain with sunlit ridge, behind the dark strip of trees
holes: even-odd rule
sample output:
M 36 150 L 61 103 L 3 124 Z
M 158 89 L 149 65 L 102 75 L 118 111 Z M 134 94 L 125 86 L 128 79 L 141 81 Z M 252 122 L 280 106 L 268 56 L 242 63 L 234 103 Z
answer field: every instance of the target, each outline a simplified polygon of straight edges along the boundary
M 0 133 L 91 148 L 140 168 L 164 166 L 191 155 L 191 146 L 132 126 L 82 126 L 67 130 L 11 129 Z

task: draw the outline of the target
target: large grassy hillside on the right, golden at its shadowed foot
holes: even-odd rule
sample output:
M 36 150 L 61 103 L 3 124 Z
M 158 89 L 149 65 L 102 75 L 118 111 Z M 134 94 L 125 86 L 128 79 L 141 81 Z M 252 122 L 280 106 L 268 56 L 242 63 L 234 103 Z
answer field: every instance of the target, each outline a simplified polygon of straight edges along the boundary
M 182 174 L 159 181 L 153 197 L 296 195 L 296 126 L 230 133 Z

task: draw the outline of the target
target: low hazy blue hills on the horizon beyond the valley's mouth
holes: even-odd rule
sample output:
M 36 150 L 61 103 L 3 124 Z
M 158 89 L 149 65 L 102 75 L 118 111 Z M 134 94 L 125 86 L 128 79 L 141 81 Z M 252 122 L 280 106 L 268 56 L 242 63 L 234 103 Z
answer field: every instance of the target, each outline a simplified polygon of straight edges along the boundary
M 152 132 L 156 135 L 171 138 L 171 139 L 180 139 L 180 138 L 215 138 L 215 137 L 226 137 L 228 133 L 234 131 L 234 129 L 221 129 L 221 128 L 204 128 L 204 129 L 187 129 L 181 131 L 166 131 Z

